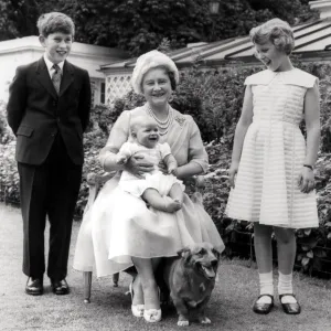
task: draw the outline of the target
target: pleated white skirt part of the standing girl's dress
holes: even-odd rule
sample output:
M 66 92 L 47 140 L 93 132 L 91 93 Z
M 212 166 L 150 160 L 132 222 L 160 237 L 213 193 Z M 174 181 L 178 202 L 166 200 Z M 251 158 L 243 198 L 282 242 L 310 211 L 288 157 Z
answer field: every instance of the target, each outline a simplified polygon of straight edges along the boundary
M 226 214 L 280 227 L 318 226 L 316 192 L 302 193 L 298 183 L 305 158 L 306 142 L 298 126 L 254 121 L 245 137 Z

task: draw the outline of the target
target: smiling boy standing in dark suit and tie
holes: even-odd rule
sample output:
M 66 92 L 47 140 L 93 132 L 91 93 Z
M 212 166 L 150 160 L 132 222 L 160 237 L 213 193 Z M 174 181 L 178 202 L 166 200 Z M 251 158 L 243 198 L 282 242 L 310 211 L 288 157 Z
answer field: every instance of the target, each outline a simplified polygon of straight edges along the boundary
M 74 209 L 84 162 L 83 132 L 88 125 L 90 84 L 87 71 L 66 61 L 75 25 L 63 13 L 38 21 L 45 53 L 19 66 L 10 86 L 8 122 L 17 136 L 23 216 L 25 292 L 43 293 L 44 229 L 50 221 L 47 276 L 56 295 L 65 280 Z

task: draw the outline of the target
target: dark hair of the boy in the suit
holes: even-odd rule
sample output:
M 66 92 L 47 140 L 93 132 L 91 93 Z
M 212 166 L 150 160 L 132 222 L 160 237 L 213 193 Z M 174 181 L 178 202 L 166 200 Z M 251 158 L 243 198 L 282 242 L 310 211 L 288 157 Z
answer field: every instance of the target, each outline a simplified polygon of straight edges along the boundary
M 73 20 L 62 12 L 49 12 L 42 14 L 36 26 L 39 33 L 45 38 L 51 33 L 62 32 L 65 34 L 75 35 L 75 24 Z

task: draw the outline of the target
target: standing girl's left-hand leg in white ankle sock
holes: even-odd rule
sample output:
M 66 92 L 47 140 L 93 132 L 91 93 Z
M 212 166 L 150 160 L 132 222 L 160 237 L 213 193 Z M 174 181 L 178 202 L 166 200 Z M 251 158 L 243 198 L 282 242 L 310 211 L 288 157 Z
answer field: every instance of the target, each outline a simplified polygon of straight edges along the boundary
M 259 276 L 259 295 L 257 305 L 270 305 L 274 297 L 273 281 L 273 247 L 271 247 L 273 227 L 269 225 L 254 224 L 254 248 Z M 254 311 L 260 307 L 255 307 Z M 261 308 L 264 310 L 265 307 Z M 259 311 L 256 311 L 259 312 Z M 265 312 L 261 312 L 265 313 Z

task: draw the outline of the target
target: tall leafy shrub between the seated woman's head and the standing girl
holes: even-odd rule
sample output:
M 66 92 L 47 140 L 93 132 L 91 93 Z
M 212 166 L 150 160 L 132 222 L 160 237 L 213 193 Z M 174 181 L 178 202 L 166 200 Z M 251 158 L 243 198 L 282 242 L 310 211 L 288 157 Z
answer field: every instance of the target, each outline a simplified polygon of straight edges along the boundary
M 257 70 L 238 66 L 205 71 L 194 65 L 181 73 L 172 104 L 194 118 L 204 141 L 231 145 L 243 104 L 243 83 Z

